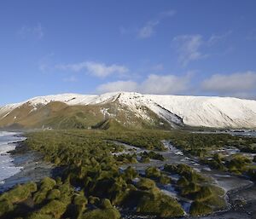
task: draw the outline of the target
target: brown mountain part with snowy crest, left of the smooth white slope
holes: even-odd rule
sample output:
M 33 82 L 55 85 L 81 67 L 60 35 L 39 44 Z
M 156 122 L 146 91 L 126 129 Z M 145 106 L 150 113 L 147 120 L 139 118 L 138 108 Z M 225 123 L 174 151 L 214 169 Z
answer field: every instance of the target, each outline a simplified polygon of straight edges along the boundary
M 137 101 L 137 98 L 142 98 L 142 95 L 111 93 L 36 97 L 1 107 L 0 127 L 90 129 L 102 124 L 102 129 L 121 126 L 170 129 L 183 125 L 181 118 L 172 112 L 162 109 L 153 101 Z M 163 116 L 157 112 L 162 112 Z

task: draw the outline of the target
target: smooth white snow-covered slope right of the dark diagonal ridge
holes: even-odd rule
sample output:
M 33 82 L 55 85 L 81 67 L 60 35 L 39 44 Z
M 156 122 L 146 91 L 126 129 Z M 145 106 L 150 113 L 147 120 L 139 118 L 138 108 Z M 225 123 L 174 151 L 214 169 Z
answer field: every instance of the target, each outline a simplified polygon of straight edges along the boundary
M 231 97 L 146 95 L 191 126 L 256 127 L 256 101 Z

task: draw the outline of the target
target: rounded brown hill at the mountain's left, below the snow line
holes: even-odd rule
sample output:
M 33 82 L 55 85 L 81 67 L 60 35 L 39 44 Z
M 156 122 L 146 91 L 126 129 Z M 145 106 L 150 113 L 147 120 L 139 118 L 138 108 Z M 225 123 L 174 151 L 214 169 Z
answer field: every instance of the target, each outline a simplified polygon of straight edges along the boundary
M 26 103 L 1 119 L 0 126 L 51 127 L 55 129 L 87 128 L 102 121 L 102 119 L 103 115 L 99 107 L 95 106 L 68 106 L 62 102 L 50 102 L 47 105 L 38 105 L 35 108 Z

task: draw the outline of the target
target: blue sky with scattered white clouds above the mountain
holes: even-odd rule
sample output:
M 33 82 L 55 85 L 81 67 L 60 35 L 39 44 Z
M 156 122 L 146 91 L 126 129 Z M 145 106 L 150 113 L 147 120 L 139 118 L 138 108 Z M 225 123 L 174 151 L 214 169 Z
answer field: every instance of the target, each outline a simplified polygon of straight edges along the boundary
M 256 96 L 255 1 L 0 3 L 0 105 L 137 91 Z

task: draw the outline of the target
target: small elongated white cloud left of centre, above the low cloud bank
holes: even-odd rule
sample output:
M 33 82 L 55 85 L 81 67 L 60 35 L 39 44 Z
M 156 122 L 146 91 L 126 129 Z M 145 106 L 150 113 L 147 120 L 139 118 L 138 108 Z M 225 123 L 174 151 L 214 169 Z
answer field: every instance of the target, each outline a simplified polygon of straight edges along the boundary
M 105 78 L 111 74 L 124 75 L 126 72 L 129 72 L 129 69 L 125 66 L 119 66 L 116 64 L 106 65 L 104 63 L 94 62 L 94 61 L 84 61 L 75 64 L 67 65 L 57 65 L 57 69 L 72 71 L 72 72 L 81 72 L 86 71 L 91 75 L 94 75 L 99 78 Z

